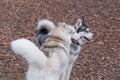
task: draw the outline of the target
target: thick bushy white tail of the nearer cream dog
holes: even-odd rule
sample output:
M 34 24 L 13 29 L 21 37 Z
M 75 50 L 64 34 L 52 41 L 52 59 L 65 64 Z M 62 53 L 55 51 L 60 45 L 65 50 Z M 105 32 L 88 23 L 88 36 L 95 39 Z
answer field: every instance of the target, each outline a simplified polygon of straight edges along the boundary
M 31 41 L 27 39 L 18 39 L 11 42 L 11 49 L 15 54 L 19 54 L 28 61 L 29 64 L 34 64 L 43 68 L 47 62 L 47 57 L 42 51 Z

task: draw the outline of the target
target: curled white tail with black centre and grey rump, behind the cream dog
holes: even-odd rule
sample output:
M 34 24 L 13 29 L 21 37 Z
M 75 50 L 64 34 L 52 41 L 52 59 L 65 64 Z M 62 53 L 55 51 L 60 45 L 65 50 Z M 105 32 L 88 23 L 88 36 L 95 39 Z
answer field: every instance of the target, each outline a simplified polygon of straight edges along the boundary
M 49 27 L 48 27 L 49 26 Z M 39 20 L 37 24 L 37 38 L 35 39 L 35 44 L 40 47 L 45 39 L 52 34 L 53 30 L 55 29 L 55 24 L 47 19 Z M 44 37 L 41 37 L 41 35 Z M 48 34 L 46 36 L 46 34 Z

